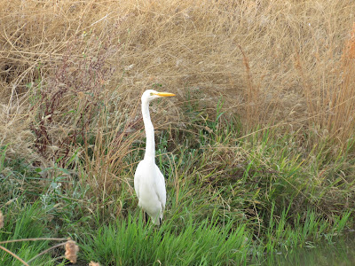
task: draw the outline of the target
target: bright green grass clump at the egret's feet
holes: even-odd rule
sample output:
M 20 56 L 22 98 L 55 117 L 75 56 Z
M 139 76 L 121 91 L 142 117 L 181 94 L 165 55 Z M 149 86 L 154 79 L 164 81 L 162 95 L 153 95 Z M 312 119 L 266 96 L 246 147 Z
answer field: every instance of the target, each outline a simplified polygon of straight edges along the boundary
M 139 219 L 138 219 L 139 218 Z M 248 238 L 245 226 L 235 228 L 216 221 L 196 223 L 192 218 L 184 228 L 175 220 L 160 228 L 142 224 L 141 216 L 99 226 L 83 235 L 83 258 L 104 265 L 220 265 L 246 262 Z M 176 217 L 179 220 L 179 217 Z M 138 222 L 139 220 L 139 222 Z

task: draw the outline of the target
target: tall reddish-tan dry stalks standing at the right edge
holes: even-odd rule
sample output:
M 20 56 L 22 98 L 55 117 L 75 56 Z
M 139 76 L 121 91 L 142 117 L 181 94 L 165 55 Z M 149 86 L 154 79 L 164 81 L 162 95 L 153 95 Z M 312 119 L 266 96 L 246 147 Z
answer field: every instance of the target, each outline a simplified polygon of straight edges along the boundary
M 318 59 L 319 62 L 319 59 Z M 355 24 L 344 43 L 341 58 L 329 58 L 331 66 L 321 66 L 318 83 L 306 74 L 296 57 L 296 68 L 303 79 L 310 126 L 319 137 L 335 140 L 342 146 L 355 129 Z

